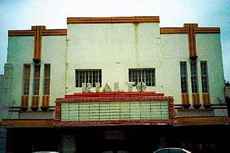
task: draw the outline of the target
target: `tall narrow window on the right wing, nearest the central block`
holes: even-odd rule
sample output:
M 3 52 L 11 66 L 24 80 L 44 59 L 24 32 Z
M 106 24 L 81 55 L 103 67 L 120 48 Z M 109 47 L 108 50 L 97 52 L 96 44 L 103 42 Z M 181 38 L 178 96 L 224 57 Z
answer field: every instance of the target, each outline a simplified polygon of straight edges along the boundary
M 188 92 L 188 82 L 187 82 L 187 63 L 180 62 L 180 77 L 181 77 L 181 91 L 183 93 Z

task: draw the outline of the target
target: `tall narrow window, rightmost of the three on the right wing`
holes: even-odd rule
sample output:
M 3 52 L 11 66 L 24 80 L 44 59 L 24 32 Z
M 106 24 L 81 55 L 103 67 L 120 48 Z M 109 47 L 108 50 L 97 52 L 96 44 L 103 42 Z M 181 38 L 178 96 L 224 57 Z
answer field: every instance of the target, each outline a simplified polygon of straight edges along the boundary
M 202 92 L 208 92 L 208 66 L 207 61 L 200 62 Z

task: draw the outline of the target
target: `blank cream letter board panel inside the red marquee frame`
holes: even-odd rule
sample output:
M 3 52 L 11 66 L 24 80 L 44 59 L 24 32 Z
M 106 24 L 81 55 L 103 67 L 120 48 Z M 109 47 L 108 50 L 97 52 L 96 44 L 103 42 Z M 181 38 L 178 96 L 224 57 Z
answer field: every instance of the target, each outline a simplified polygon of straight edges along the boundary
M 62 121 L 167 120 L 168 101 L 62 103 Z

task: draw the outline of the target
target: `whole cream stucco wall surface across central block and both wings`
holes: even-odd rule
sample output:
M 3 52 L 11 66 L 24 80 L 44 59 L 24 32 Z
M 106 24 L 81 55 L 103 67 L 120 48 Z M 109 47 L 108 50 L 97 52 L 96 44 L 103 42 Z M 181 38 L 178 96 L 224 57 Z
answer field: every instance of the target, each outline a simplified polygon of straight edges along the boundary
M 7 64 L 13 67 L 13 88 L 7 103 L 19 106 L 25 63 L 31 64 L 32 96 L 34 38 L 9 37 L 8 42 Z M 219 103 L 224 96 L 220 35 L 196 34 L 196 43 L 200 95 L 200 61 L 207 60 L 211 102 Z M 40 96 L 43 95 L 46 63 L 51 64 L 51 105 L 55 105 L 57 97 L 82 90 L 75 87 L 75 69 L 102 69 L 103 85 L 108 82 L 113 89 L 114 83 L 119 82 L 120 90 L 127 91 L 129 68 L 155 68 L 156 85 L 147 90 L 173 96 L 175 104 L 181 104 L 180 61 L 187 62 L 189 98 L 192 102 L 187 34 L 160 35 L 160 27 L 156 23 L 68 24 L 67 37 L 42 37 Z M 202 102 L 201 96 L 200 99 Z

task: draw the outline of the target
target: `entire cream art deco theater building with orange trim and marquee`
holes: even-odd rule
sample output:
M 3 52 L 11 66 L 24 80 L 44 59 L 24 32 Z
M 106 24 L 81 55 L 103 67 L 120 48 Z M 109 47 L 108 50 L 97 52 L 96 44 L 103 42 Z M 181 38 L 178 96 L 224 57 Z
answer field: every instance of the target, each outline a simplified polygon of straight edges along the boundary
M 229 135 L 220 28 L 159 24 L 68 17 L 67 29 L 9 30 L 2 150 L 220 151 Z

